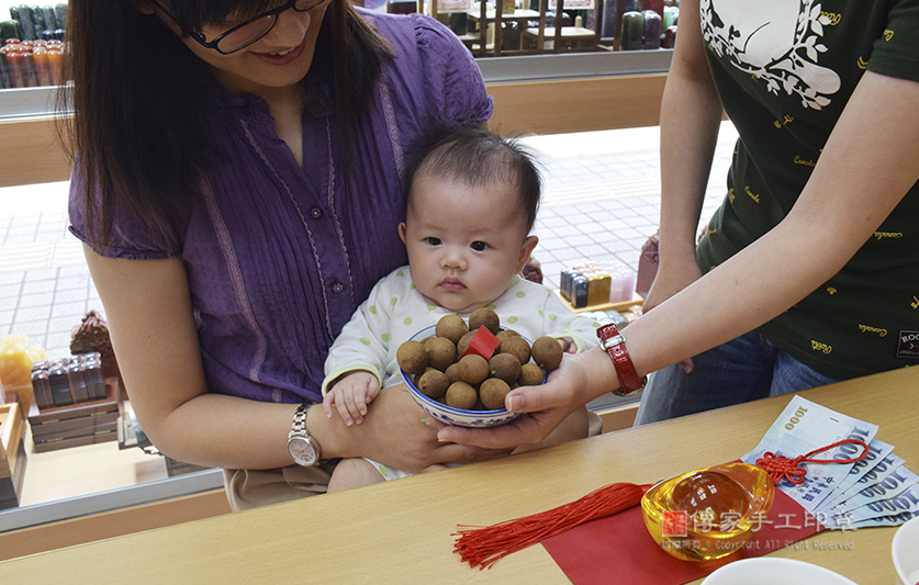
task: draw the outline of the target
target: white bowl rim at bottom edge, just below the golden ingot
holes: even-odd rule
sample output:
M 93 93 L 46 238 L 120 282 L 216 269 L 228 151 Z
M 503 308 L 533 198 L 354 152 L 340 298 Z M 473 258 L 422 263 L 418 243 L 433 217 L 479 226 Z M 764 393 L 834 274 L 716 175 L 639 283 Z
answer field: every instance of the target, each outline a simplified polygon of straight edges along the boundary
M 757 556 L 728 563 L 708 575 L 703 585 L 856 585 L 839 573 L 816 564 L 780 559 L 777 556 Z

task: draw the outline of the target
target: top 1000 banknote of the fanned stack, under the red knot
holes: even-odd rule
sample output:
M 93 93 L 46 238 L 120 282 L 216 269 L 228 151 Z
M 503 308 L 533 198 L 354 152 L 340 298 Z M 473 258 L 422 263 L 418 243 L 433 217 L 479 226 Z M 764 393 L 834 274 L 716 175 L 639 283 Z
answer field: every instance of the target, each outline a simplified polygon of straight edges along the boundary
M 795 395 L 757 448 L 743 455 L 742 460 L 755 465 L 757 460 L 766 452 L 795 459 L 843 439 L 859 439 L 870 445 L 876 434 L 877 425 L 837 413 Z M 811 458 L 844 461 L 858 458 L 863 451 L 861 446 L 844 443 L 815 453 Z M 807 471 L 803 483 L 794 484 L 783 480 L 776 488 L 812 513 L 818 504 L 848 477 L 853 463 L 802 463 L 802 466 Z

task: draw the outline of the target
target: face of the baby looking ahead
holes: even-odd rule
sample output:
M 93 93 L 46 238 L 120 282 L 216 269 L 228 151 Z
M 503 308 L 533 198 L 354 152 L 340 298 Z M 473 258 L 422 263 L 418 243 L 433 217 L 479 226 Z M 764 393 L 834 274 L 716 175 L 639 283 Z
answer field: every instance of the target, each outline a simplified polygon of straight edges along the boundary
M 419 175 L 399 234 L 415 286 L 438 305 L 469 313 L 487 305 L 518 273 L 536 237 L 527 237 L 518 190 L 470 187 Z

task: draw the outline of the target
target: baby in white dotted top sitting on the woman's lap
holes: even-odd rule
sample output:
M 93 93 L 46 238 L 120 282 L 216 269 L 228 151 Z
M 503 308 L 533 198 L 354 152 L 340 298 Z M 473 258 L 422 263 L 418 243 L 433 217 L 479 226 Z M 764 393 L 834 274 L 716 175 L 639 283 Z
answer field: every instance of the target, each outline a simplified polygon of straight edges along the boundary
M 399 225 L 408 266 L 374 285 L 325 363 L 323 406 L 328 417 L 337 409 L 346 425 L 361 423 L 381 387 L 402 382 L 399 346 L 447 314 L 468 317 L 487 306 L 502 325 L 530 340 L 551 335 L 568 352 L 594 344 L 598 324 L 572 313 L 550 289 L 520 278 L 538 241 L 529 234 L 541 182 L 533 157 L 481 128 L 437 133 L 417 151 L 406 168 L 405 222 Z M 536 447 L 585 437 L 587 420 L 585 408 L 574 412 Z M 405 475 L 346 459 L 328 491 Z

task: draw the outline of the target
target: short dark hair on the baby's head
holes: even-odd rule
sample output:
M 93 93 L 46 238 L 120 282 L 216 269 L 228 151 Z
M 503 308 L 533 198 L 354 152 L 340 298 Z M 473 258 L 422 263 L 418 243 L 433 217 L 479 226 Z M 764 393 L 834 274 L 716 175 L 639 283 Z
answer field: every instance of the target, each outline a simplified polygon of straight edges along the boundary
M 515 138 L 504 138 L 480 126 L 441 128 L 417 142 L 405 167 L 406 205 L 418 175 L 453 180 L 469 187 L 506 181 L 517 188 L 533 229 L 542 190 L 536 157 Z

